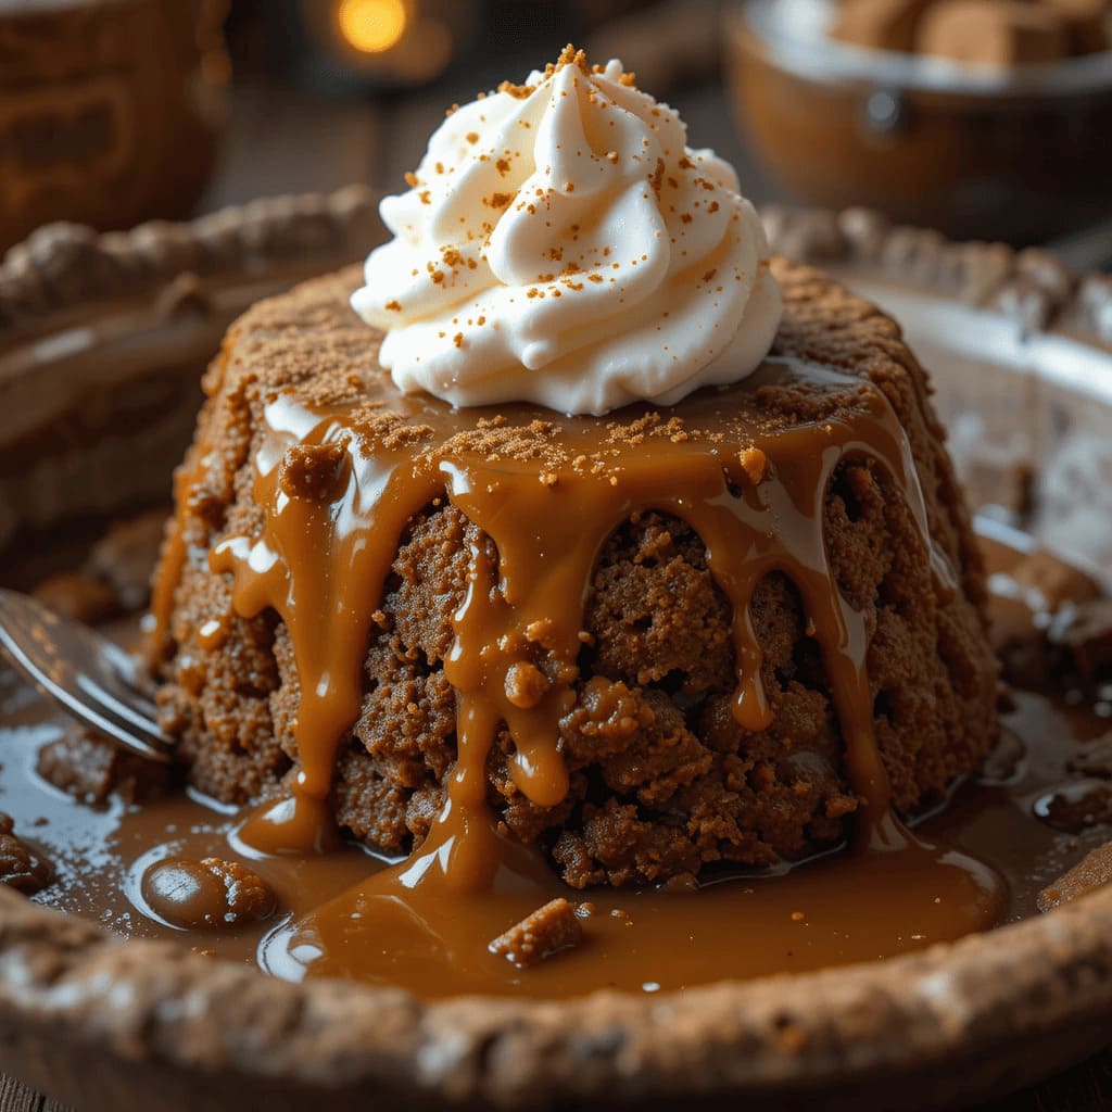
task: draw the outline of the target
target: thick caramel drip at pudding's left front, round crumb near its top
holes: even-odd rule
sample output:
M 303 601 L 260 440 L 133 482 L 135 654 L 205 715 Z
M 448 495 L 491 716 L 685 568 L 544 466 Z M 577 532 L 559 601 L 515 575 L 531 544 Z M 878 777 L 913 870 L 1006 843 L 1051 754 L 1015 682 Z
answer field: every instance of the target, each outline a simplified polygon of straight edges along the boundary
M 339 744 L 359 713 L 370 626 L 396 542 L 413 515 L 440 493 L 443 480 L 431 468 L 407 475 L 404 454 L 385 466 L 353 454 L 334 502 L 288 492 L 281 484 L 286 447 L 353 441 L 342 421 L 321 421 L 280 399 L 267 414 L 268 421 L 294 424 L 271 425 L 279 437 L 256 459 L 252 493 L 267 507 L 266 532 L 256 540 L 227 538 L 214 547 L 209 563 L 214 572 L 235 574 L 232 602 L 239 614 L 254 617 L 272 607 L 286 623 L 301 688 L 299 768 L 290 798 L 262 811 L 240 836 L 269 853 L 322 852 L 336 845 L 327 802 L 332 772 Z M 306 417 L 310 428 L 298 437 Z M 393 545 L 385 543 L 388 538 Z

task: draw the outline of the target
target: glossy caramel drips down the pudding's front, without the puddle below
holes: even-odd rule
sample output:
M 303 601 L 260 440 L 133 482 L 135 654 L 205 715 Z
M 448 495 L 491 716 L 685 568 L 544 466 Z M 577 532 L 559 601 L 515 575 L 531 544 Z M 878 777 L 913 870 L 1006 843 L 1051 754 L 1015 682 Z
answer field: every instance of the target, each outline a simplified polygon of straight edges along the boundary
M 553 467 L 474 446 L 386 448 L 380 436 L 368 435 L 367 418 L 354 407 L 314 413 L 284 397 L 275 400 L 256 459 L 255 498 L 265 509 L 265 528 L 258 537 L 225 539 L 210 563 L 235 576 L 238 613 L 249 617 L 272 607 L 286 623 L 301 688 L 295 727 L 300 771 L 291 800 L 248 823 L 241 838 L 268 852 L 332 843 L 327 798 L 337 747 L 359 713 L 363 663 L 389 567 L 407 525 L 446 495 L 483 539 L 470 553 L 467 596 L 454 617 L 445 662 L 457 692 L 457 762 L 444 812 L 406 871 L 409 881 L 427 877 L 436 865 L 453 888 L 492 885 L 507 853 L 486 803 L 486 761 L 500 726 L 514 742 L 517 787 L 542 806 L 564 798 L 568 778 L 558 724 L 576 698 L 593 569 L 614 529 L 646 510 L 682 518 L 706 545 L 712 576 L 733 607 L 734 714 L 746 729 L 765 728 L 774 715 L 749 609 L 754 592 L 774 572 L 796 585 L 825 661 L 847 775 L 862 801 L 858 842 L 898 840 L 873 736 L 866 618 L 842 597 L 831 572 L 823 507 L 840 463 L 873 459 L 902 492 L 930 548 L 923 498 L 884 395 L 856 379 L 778 360 L 761 373 L 764 381 L 801 375 L 814 388 L 843 396 L 852 383 L 854 407 L 840 407 L 821 423 L 784 427 L 755 408 L 749 389 L 703 391 L 683 409 L 698 435 L 615 439 L 606 421 L 594 418 L 549 426 Z M 389 400 L 441 446 L 465 424 L 431 399 Z M 550 417 L 524 407 L 503 413 L 523 425 Z M 477 411 L 466 424 L 484 416 Z M 759 481 L 741 459 L 755 444 L 770 465 Z M 287 451 L 318 445 L 342 447 L 341 492 L 320 498 L 286 489 Z M 585 468 L 584 459 L 604 464 Z M 529 683 L 518 682 L 523 674 Z

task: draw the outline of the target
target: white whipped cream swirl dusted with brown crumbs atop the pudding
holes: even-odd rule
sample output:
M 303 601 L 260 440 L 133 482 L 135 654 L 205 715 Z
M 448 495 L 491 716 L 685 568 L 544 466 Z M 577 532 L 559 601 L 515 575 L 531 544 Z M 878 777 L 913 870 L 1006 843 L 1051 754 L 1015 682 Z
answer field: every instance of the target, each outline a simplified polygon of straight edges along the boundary
M 351 298 L 406 393 L 603 414 L 736 381 L 780 322 L 733 168 L 622 63 L 564 52 L 454 111 Z

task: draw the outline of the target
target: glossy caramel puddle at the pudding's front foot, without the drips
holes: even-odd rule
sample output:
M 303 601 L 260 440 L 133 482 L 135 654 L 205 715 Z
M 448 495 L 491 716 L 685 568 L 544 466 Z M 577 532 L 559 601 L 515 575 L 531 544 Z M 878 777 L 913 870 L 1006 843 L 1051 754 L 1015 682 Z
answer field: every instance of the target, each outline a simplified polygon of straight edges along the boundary
M 592 891 L 506 868 L 489 891 L 385 870 L 267 937 L 259 962 L 287 980 L 340 976 L 423 996 L 576 996 L 596 989 L 667 991 L 868 961 L 986 930 L 1005 896 L 965 854 L 905 835 L 868 855 L 835 853 L 784 872 L 724 875 L 698 891 Z M 586 896 L 584 943 L 519 970 L 489 942 L 555 895 Z

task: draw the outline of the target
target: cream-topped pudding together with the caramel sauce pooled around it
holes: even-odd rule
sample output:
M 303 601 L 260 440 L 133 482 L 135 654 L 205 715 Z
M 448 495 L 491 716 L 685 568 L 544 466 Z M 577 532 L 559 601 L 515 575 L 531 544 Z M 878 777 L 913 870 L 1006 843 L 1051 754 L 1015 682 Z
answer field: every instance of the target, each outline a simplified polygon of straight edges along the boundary
M 12 876 L 425 999 L 652 994 L 1034 913 L 1096 844 L 1056 744 L 1096 719 L 1001 719 L 898 326 L 770 258 L 728 167 L 572 50 L 449 117 L 410 186 L 361 275 L 258 304 L 206 376 L 143 639 L 186 792 L 9 684 L 0 745 L 39 742 L 0 790 Z

